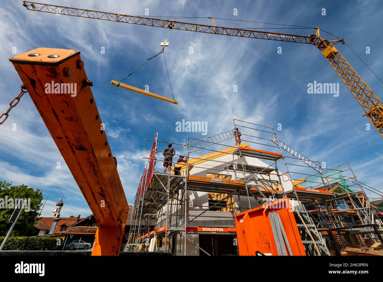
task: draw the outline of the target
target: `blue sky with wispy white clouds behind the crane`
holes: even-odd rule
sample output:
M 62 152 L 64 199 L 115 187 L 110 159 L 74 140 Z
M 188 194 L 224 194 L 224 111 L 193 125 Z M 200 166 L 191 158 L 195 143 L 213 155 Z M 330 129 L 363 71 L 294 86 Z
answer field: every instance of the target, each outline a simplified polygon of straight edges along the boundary
M 48 0 L 47 0 L 48 1 Z M 233 20 L 261 21 L 299 26 L 319 26 L 344 38 L 375 73 L 382 77 L 383 3 L 381 1 L 57 1 L 51 4 L 107 12 L 149 16 L 213 16 Z M 217 5 L 219 3 L 219 5 Z M 238 15 L 233 15 L 236 8 Z M 321 15 L 326 8 L 326 16 Z M 188 21 L 188 20 L 184 20 Z M 191 22 L 211 24 L 210 19 Z M 254 40 L 126 23 L 106 22 L 26 10 L 22 2 L 3 1 L 0 7 L 0 112 L 20 91 L 21 80 L 8 58 L 39 47 L 77 49 L 81 52 L 88 79 L 128 202 L 134 200 L 139 178 L 156 132 L 159 139 L 185 143 L 201 133 L 176 132 L 182 119 L 206 121 L 208 135 L 232 129 L 232 119 L 277 128 L 278 138 L 327 167 L 349 162 L 358 179 L 383 190 L 382 138 L 342 84 L 326 59 L 310 45 Z M 216 20 L 218 26 L 240 27 Z M 241 23 L 253 28 L 270 27 Z M 298 35 L 311 29 L 273 30 Z M 166 35 L 165 35 L 166 32 Z M 171 38 L 170 38 L 171 34 Z M 325 38 L 333 38 L 321 34 Z M 160 50 L 163 38 L 170 80 L 177 106 L 111 86 Z M 169 39 L 170 38 L 170 39 Z M 371 53 L 366 54 L 369 46 Z M 105 47 L 105 54 L 101 54 Z M 193 47 L 193 54 L 189 53 Z M 277 48 L 282 47 L 282 54 Z M 346 45 L 337 45 L 376 95 L 382 84 Z M 339 83 L 339 97 L 308 94 L 314 81 Z M 126 79 L 127 84 L 170 97 L 169 81 L 162 55 Z M 233 92 L 237 85 L 238 92 Z M 12 130 L 16 123 L 17 130 Z M 175 147 L 177 152 L 183 152 Z M 61 162 L 61 169 L 56 163 Z M 157 168 L 160 169 L 161 167 Z M 54 204 L 64 195 L 61 216 L 91 211 L 30 97 L 23 96 L 8 120 L 0 125 L 0 180 L 25 183 L 49 194 L 43 216 L 51 216 Z M 131 204 L 131 203 L 130 203 Z

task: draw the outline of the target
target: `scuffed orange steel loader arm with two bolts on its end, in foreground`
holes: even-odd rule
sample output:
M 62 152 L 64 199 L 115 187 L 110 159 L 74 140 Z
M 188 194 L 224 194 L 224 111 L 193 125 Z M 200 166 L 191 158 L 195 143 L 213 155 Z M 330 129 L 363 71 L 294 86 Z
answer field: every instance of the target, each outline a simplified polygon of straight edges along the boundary
M 97 220 L 92 255 L 118 255 L 129 207 L 80 52 L 38 48 L 10 61 Z

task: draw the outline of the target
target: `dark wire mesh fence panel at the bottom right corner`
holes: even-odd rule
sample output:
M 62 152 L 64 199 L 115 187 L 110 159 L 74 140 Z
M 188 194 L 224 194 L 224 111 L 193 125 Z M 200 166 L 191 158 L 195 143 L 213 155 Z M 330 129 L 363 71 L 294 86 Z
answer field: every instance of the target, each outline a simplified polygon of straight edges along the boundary
M 333 256 L 383 256 L 383 228 L 358 225 L 321 231 Z

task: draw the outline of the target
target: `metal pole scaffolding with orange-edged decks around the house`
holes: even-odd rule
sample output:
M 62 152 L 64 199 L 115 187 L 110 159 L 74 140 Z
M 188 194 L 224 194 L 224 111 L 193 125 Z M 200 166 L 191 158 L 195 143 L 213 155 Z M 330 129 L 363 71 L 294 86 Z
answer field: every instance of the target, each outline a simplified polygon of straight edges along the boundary
M 272 127 L 238 119 L 234 119 L 233 124 L 234 129 L 226 130 L 204 139 L 189 137 L 185 144 L 172 142 L 173 145 L 179 145 L 186 150 L 186 154 L 176 154 L 176 156 L 188 156 L 186 164 L 181 169 L 182 175 L 156 172 L 155 167 L 150 171 L 149 166 L 151 163 L 154 163 L 155 166 L 156 161 L 163 162 L 163 160 L 156 158 L 157 153 L 164 153 L 164 151 L 157 148 L 157 145 L 159 143 L 169 143 L 169 141 L 158 140 L 157 134 L 154 140 L 146 139 L 146 141 L 154 142 L 154 145 L 152 148 L 144 148 L 151 150 L 151 157 L 146 158 L 148 159 L 146 167 L 137 189 L 133 216 L 131 218 L 131 227 L 133 226 L 133 229 L 128 236 L 128 243 L 125 247 L 126 251 L 159 251 L 163 242 L 163 249 L 165 251 L 182 255 L 183 243 L 183 255 L 186 255 L 187 242 L 190 242 L 200 251 L 210 255 L 201 246 L 187 238 L 187 234 L 206 234 L 206 232 L 201 231 L 198 226 L 188 226 L 188 224 L 190 225 L 196 219 L 210 218 L 232 219 L 234 223 L 236 213 L 255 207 L 251 204 L 251 198 L 254 198 L 260 205 L 278 198 L 288 197 L 291 200 L 297 200 L 297 203 L 303 206 L 319 206 L 319 209 L 307 210 L 307 214 L 309 214 L 319 228 L 339 227 L 339 222 L 343 227 L 340 216 L 347 215 L 347 212 L 354 212 L 358 217 L 360 222 L 355 224 L 371 223 L 372 213 L 370 206 L 366 204 L 368 203 L 368 198 L 364 189 L 373 191 L 373 188 L 363 185 L 363 183 L 357 180 L 349 163 L 343 163 L 326 170 L 326 168 L 322 167 L 321 162 L 310 160 L 279 140 Z M 244 133 L 241 133 L 241 137 L 234 133 L 236 128 L 244 130 Z M 244 137 L 249 140 L 244 140 Z M 228 142 L 234 142 L 235 140 L 239 141 L 237 145 L 228 144 Z M 246 142 L 246 146 L 241 146 L 243 142 Z M 256 144 L 257 149 L 251 148 L 250 143 Z M 278 153 L 265 150 L 270 147 L 273 150 L 277 150 Z M 223 149 L 220 150 L 220 148 Z M 154 154 L 153 150 L 155 150 Z M 190 158 L 190 154 L 200 150 L 209 153 Z M 288 152 L 288 155 L 284 155 L 284 152 Z M 231 161 L 227 159 L 217 160 L 221 156 L 229 155 L 231 155 Z M 266 165 L 263 167 L 250 165 L 246 162 L 246 158 L 252 157 L 260 159 Z M 193 161 L 191 162 L 191 160 Z M 208 165 L 206 162 L 211 164 Z M 284 168 L 285 173 L 278 169 L 277 164 L 280 162 L 282 162 L 280 168 Z M 175 162 L 172 162 L 173 164 Z M 342 179 L 348 183 L 347 187 L 350 191 L 336 193 L 333 191 L 333 188 L 340 181 L 337 178 L 339 176 L 336 173 L 329 174 L 328 172 L 337 171 L 338 169 L 336 168 L 342 165 L 347 165 L 348 168 L 345 170 L 339 169 L 340 175 L 347 171 L 351 172 L 351 176 L 342 176 Z M 216 171 L 216 175 L 223 175 L 222 172 L 226 172 L 227 179 L 220 178 L 219 180 L 211 177 L 211 180 L 209 180 L 206 179 L 208 177 L 195 176 L 190 174 L 191 168 L 209 171 L 211 174 L 214 174 L 214 171 Z M 291 168 L 294 168 L 294 170 L 291 170 Z M 308 172 L 307 169 L 309 170 Z M 272 176 L 275 179 L 272 179 Z M 300 176 L 304 176 L 302 183 L 306 183 L 306 186 L 308 183 L 311 184 L 311 188 L 295 184 L 297 183 L 296 181 L 302 181 Z M 234 177 L 234 180 L 230 177 Z M 150 178 L 149 183 L 148 178 Z M 287 186 L 290 186 L 291 189 L 286 189 L 289 188 Z M 351 188 L 354 187 L 357 187 L 359 191 L 352 191 Z M 203 191 L 214 193 L 215 195 L 223 195 L 214 204 L 198 206 L 193 205 L 193 202 L 190 201 L 188 191 Z M 248 206 L 241 203 L 241 196 L 247 196 L 246 202 Z M 235 197 L 237 197 L 237 201 L 233 200 Z M 229 198 L 231 198 L 232 206 L 227 209 L 230 209 L 230 212 L 213 211 L 214 207 L 220 209 L 220 204 L 226 204 L 227 201 L 225 200 Z M 338 203 L 337 201 L 346 198 L 352 203 L 352 208 L 341 211 L 334 208 L 334 203 Z M 322 206 L 324 206 L 324 209 L 322 209 Z M 202 212 L 196 214 L 191 209 L 188 209 L 195 207 L 201 208 Z M 295 212 L 300 216 L 299 210 Z M 305 223 L 303 222 L 302 224 L 308 230 Z M 208 226 L 208 228 L 214 229 L 215 227 Z M 223 231 L 220 234 L 236 236 L 235 225 L 222 229 Z M 308 232 L 310 233 L 310 231 Z M 207 232 L 207 234 L 211 233 Z M 311 236 L 311 234 L 309 235 Z M 311 236 L 311 238 L 313 237 Z M 154 240 L 152 241 L 152 246 L 154 245 L 155 247 L 152 249 L 149 249 L 149 246 L 151 246 L 149 240 Z M 174 244 L 177 240 L 178 246 Z

